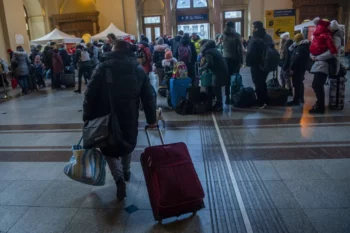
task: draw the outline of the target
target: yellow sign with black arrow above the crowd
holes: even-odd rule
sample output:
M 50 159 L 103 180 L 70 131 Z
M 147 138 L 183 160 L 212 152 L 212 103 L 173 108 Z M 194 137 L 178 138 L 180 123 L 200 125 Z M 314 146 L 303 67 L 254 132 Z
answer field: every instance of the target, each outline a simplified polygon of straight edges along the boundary
M 295 10 L 267 10 L 265 12 L 265 25 L 267 33 L 274 39 L 279 40 L 281 34 L 289 32 L 294 35 Z

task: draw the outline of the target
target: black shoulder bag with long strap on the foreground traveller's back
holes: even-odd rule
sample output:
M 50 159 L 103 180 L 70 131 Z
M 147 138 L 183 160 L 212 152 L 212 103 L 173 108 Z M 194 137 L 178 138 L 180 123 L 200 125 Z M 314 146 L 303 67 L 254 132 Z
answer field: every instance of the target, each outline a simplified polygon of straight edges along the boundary
M 120 129 L 113 99 L 112 71 L 110 69 L 107 69 L 106 75 L 111 113 L 106 116 L 87 121 L 84 124 L 84 148 L 118 146 L 123 142 L 123 135 Z

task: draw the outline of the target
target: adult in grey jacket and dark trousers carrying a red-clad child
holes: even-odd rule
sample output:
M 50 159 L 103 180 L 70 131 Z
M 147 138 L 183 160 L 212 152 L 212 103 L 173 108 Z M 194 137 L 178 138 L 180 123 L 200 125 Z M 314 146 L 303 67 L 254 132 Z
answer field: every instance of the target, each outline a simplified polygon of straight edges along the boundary
M 338 22 L 335 20 L 330 23 L 327 21 L 325 22 L 328 23 L 328 25 L 330 26 L 333 46 L 335 47 L 336 51 L 339 51 L 341 48 L 342 38 L 344 37 L 344 31 L 340 29 Z M 312 41 L 312 44 L 313 43 L 314 41 Z M 338 74 L 340 69 L 340 62 L 338 59 L 338 54 L 334 54 L 330 49 L 326 50 L 324 53 L 317 56 L 314 56 L 311 53 L 310 57 L 314 61 L 314 64 L 311 67 L 311 73 L 314 74 L 312 89 L 316 94 L 317 101 L 315 105 L 312 107 L 312 109 L 310 109 L 309 113 L 324 114 L 325 112 L 324 85 L 329 75 Z M 330 69 L 330 66 L 333 66 L 334 69 Z M 329 73 L 330 70 L 335 70 L 335 74 L 330 74 Z

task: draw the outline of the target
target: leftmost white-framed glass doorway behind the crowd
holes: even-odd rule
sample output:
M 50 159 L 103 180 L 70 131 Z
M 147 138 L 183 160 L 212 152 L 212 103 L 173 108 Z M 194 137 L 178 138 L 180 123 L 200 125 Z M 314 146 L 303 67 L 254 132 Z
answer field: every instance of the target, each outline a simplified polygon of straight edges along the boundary
M 163 34 L 162 16 L 147 16 L 143 17 L 143 33 L 150 40 L 155 42 L 158 37 Z

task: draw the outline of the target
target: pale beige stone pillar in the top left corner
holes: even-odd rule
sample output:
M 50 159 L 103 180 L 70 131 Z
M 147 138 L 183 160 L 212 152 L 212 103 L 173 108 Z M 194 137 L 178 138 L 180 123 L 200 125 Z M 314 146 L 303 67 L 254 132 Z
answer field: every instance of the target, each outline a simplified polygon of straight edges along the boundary
M 23 0 L 0 0 L 3 36 L 5 43 L 12 50 L 21 45 L 26 51 L 29 51 L 29 38 L 26 29 L 26 21 L 24 17 Z M 5 9 L 6 8 L 6 9 Z M 21 35 L 24 38 L 23 44 L 17 44 L 15 36 Z

